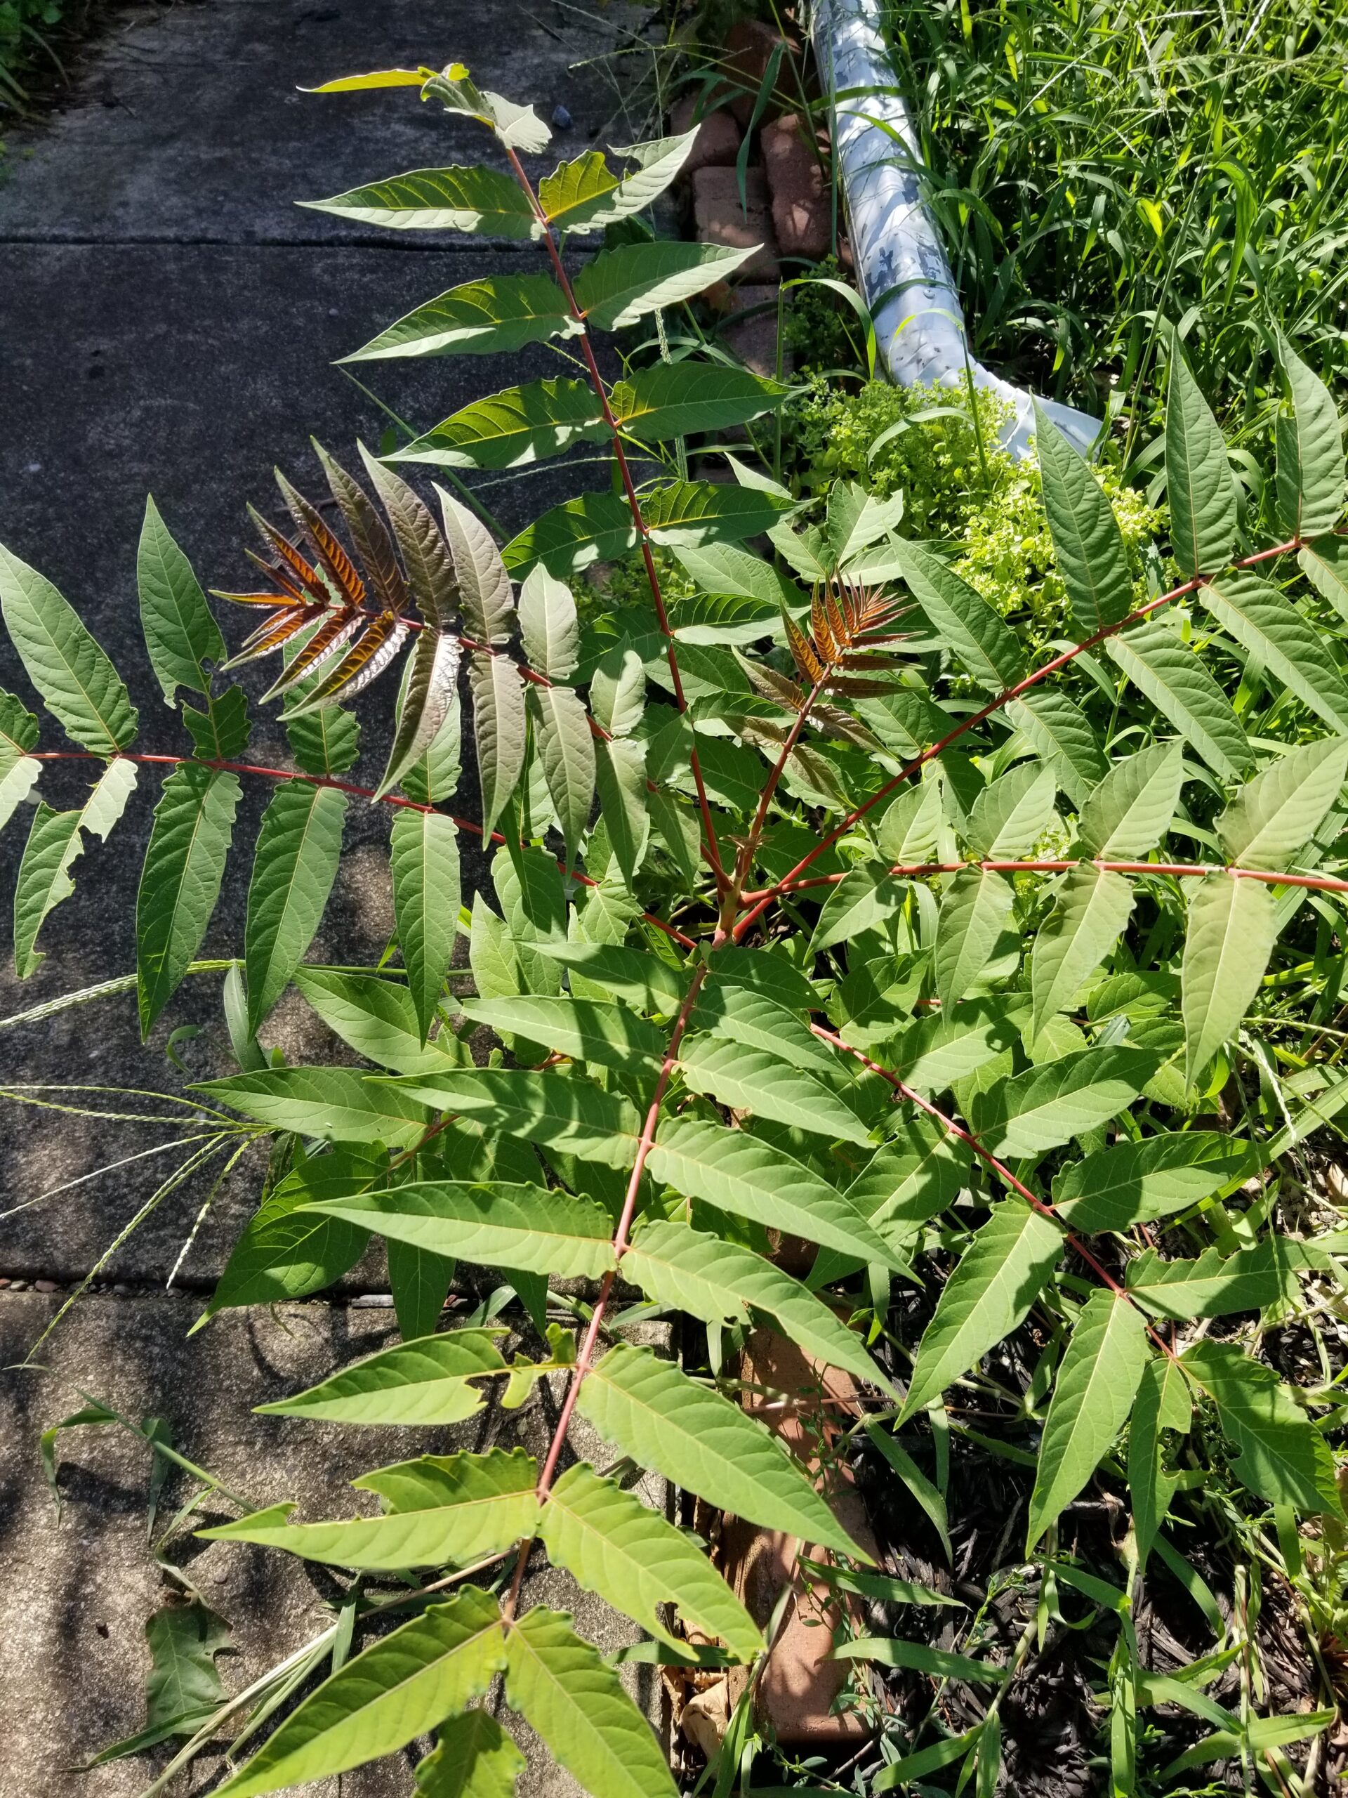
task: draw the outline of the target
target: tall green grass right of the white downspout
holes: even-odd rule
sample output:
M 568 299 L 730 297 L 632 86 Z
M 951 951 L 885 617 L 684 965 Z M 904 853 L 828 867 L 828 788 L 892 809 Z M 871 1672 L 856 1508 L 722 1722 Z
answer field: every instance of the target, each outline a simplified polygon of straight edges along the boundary
M 1305 0 L 890 0 L 974 352 L 1154 428 L 1179 324 L 1237 442 L 1278 397 L 1273 334 L 1348 372 L 1348 16 Z

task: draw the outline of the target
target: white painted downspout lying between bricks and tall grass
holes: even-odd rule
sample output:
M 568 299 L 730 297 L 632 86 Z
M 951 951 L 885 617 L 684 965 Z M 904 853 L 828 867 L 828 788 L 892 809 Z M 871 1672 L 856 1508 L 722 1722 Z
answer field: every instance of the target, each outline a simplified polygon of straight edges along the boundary
M 893 92 L 877 0 L 816 0 L 812 32 L 834 110 L 832 140 L 847 192 L 852 255 L 877 351 L 900 387 L 963 385 L 972 376 L 974 387 L 1008 401 L 1014 415 L 1001 442 L 1021 460 L 1030 453 L 1033 401 L 969 356 L 951 264 L 922 200 L 917 133 L 908 106 Z M 856 93 L 857 88 L 882 92 Z M 848 90 L 854 97 L 839 101 Z M 1098 421 L 1057 399 L 1039 403 L 1087 453 L 1100 433 Z

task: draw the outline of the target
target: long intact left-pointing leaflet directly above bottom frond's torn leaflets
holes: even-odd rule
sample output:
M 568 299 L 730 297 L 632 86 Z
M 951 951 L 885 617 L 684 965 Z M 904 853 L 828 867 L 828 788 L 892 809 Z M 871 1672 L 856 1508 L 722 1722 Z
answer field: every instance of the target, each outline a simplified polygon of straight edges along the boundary
M 599 1278 L 615 1266 L 609 1214 L 590 1199 L 545 1187 L 426 1179 L 327 1199 L 313 1208 L 433 1255 L 480 1260 L 489 1268 L 572 1280 Z

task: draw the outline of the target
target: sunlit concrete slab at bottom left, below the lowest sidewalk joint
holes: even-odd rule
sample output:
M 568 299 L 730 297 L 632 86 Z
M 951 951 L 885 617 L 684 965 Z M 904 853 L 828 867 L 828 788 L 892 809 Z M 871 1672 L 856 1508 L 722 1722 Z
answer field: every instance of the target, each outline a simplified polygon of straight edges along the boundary
M 11 1363 L 38 1334 L 52 1298 L 0 1293 L 0 1361 Z M 298 1498 L 307 1518 L 352 1514 L 358 1473 L 417 1453 L 546 1446 L 559 1390 L 539 1386 L 519 1411 L 492 1406 L 455 1429 L 343 1429 L 295 1419 L 253 1417 L 252 1406 L 322 1379 L 367 1354 L 390 1334 L 390 1314 L 341 1305 L 280 1305 L 226 1320 L 191 1341 L 192 1305 L 182 1296 L 93 1298 L 52 1340 L 45 1375 L 0 1375 L 0 1561 L 5 1566 L 13 1627 L 0 1636 L 0 1685 L 7 1694 L 0 1731 L 0 1793 L 7 1798 L 67 1798 L 70 1767 L 144 1722 L 149 1663 L 144 1620 L 180 1580 L 167 1579 L 146 1537 L 149 1456 L 120 1429 L 72 1431 L 59 1440 L 63 1510 L 58 1518 L 38 1464 L 38 1435 L 95 1393 L 124 1413 L 164 1415 L 174 1442 L 223 1483 L 259 1505 Z M 660 1332 L 651 1332 L 660 1341 Z M 77 1390 L 79 1388 L 79 1390 Z M 604 1458 L 600 1444 L 573 1429 L 582 1453 Z M 185 1496 L 173 1476 L 158 1528 Z M 663 1503 L 660 1489 L 645 1491 Z M 225 1510 L 221 1509 L 221 1519 Z M 333 1584 L 320 1568 L 234 1543 L 180 1535 L 167 1559 L 234 1631 L 219 1669 L 230 1692 L 318 1634 L 333 1620 L 324 1597 Z M 527 1582 L 527 1602 L 570 1609 L 604 1651 L 636 1640 L 625 1618 L 581 1591 L 568 1575 L 545 1568 Z M 636 1669 L 631 1669 L 634 1674 Z M 651 1669 L 633 1681 L 656 1715 Z M 79 1776 L 88 1798 L 133 1798 L 167 1755 L 113 1762 Z M 196 1782 L 200 1784 L 200 1782 Z M 196 1784 L 192 1789 L 196 1789 Z M 340 1798 L 392 1798 L 412 1789 L 410 1760 L 345 1775 Z M 313 1787 L 338 1798 L 338 1782 Z M 572 1798 L 577 1787 L 543 1757 L 530 1758 L 525 1798 Z

